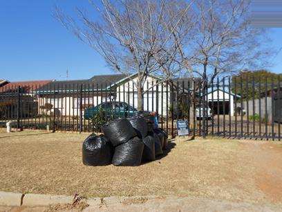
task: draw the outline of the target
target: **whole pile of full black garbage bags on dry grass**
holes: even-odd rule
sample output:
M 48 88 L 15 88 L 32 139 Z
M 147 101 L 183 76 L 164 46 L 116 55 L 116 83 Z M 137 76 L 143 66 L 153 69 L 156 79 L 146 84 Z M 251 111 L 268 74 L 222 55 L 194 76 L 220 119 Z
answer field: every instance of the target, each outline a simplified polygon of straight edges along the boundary
M 82 145 L 86 166 L 139 166 L 154 161 L 167 148 L 167 134 L 156 129 L 153 117 L 141 114 L 102 126 L 102 135 L 91 134 Z

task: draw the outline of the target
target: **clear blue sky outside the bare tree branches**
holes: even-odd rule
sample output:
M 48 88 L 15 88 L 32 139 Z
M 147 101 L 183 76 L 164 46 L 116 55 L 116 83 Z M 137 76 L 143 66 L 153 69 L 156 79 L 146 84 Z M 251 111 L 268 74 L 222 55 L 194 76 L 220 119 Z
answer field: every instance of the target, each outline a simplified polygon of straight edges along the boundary
M 0 0 L 0 78 L 10 81 L 86 79 L 113 73 L 103 58 L 80 42 L 53 17 L 55 5 L 68 14 L 87 0 Z M 282 48 L 282 28 L 270 31 L 273 46 Z M 282 51 L 270 62 L 282 73 Z

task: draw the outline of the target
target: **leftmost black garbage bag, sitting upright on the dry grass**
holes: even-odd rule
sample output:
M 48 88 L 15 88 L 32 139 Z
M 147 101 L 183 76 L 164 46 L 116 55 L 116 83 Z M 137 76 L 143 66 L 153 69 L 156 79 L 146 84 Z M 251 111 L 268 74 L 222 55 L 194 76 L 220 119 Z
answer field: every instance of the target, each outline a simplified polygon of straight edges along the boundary
M 86 166 L 111 164 L 113 145 L 104 135 L 91 134 L 82 144 L 82 161 Z

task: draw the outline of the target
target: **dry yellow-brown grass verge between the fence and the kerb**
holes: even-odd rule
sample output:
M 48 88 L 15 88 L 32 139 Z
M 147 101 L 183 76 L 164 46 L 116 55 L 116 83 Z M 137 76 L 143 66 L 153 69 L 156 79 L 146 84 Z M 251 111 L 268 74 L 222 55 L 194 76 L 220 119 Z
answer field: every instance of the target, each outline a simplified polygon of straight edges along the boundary
M 86 136 L 0 132 L 0 191 L 79 193 L 88 197 L 180 195 L 282 202 L 281 145 L 265 141 L 174 139 L 167 155 L 151 163 L 138 167 L 90 167 L 82 164 L 82 142 Z M 261 165 L 258 160 L 264 148 L 270 151 L 267 152 L 270 158 L 263 160 L 273 164 L 272 154 L 276 159 L 272 167 Z M 273 184 L 263 185 L 262 170 L 270 174 L 267 177 L 274 180 Z

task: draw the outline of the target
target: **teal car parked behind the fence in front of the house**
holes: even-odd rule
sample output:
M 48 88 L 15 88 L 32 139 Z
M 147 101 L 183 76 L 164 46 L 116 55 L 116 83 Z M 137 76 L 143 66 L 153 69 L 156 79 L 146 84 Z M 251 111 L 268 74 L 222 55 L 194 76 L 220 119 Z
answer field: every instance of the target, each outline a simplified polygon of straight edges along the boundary
M 133 108 L 128 103 L 124 102 L 107 102 L 101 103 L 95 107 L 87 107 L 84 110 L 84 118 L 91 119 L 96 116 L 98 112 L 102 109 L 106 116 L 113 116 L 115 118 L 131 117 L 133 114 L 137 113 L 138 110 Z

